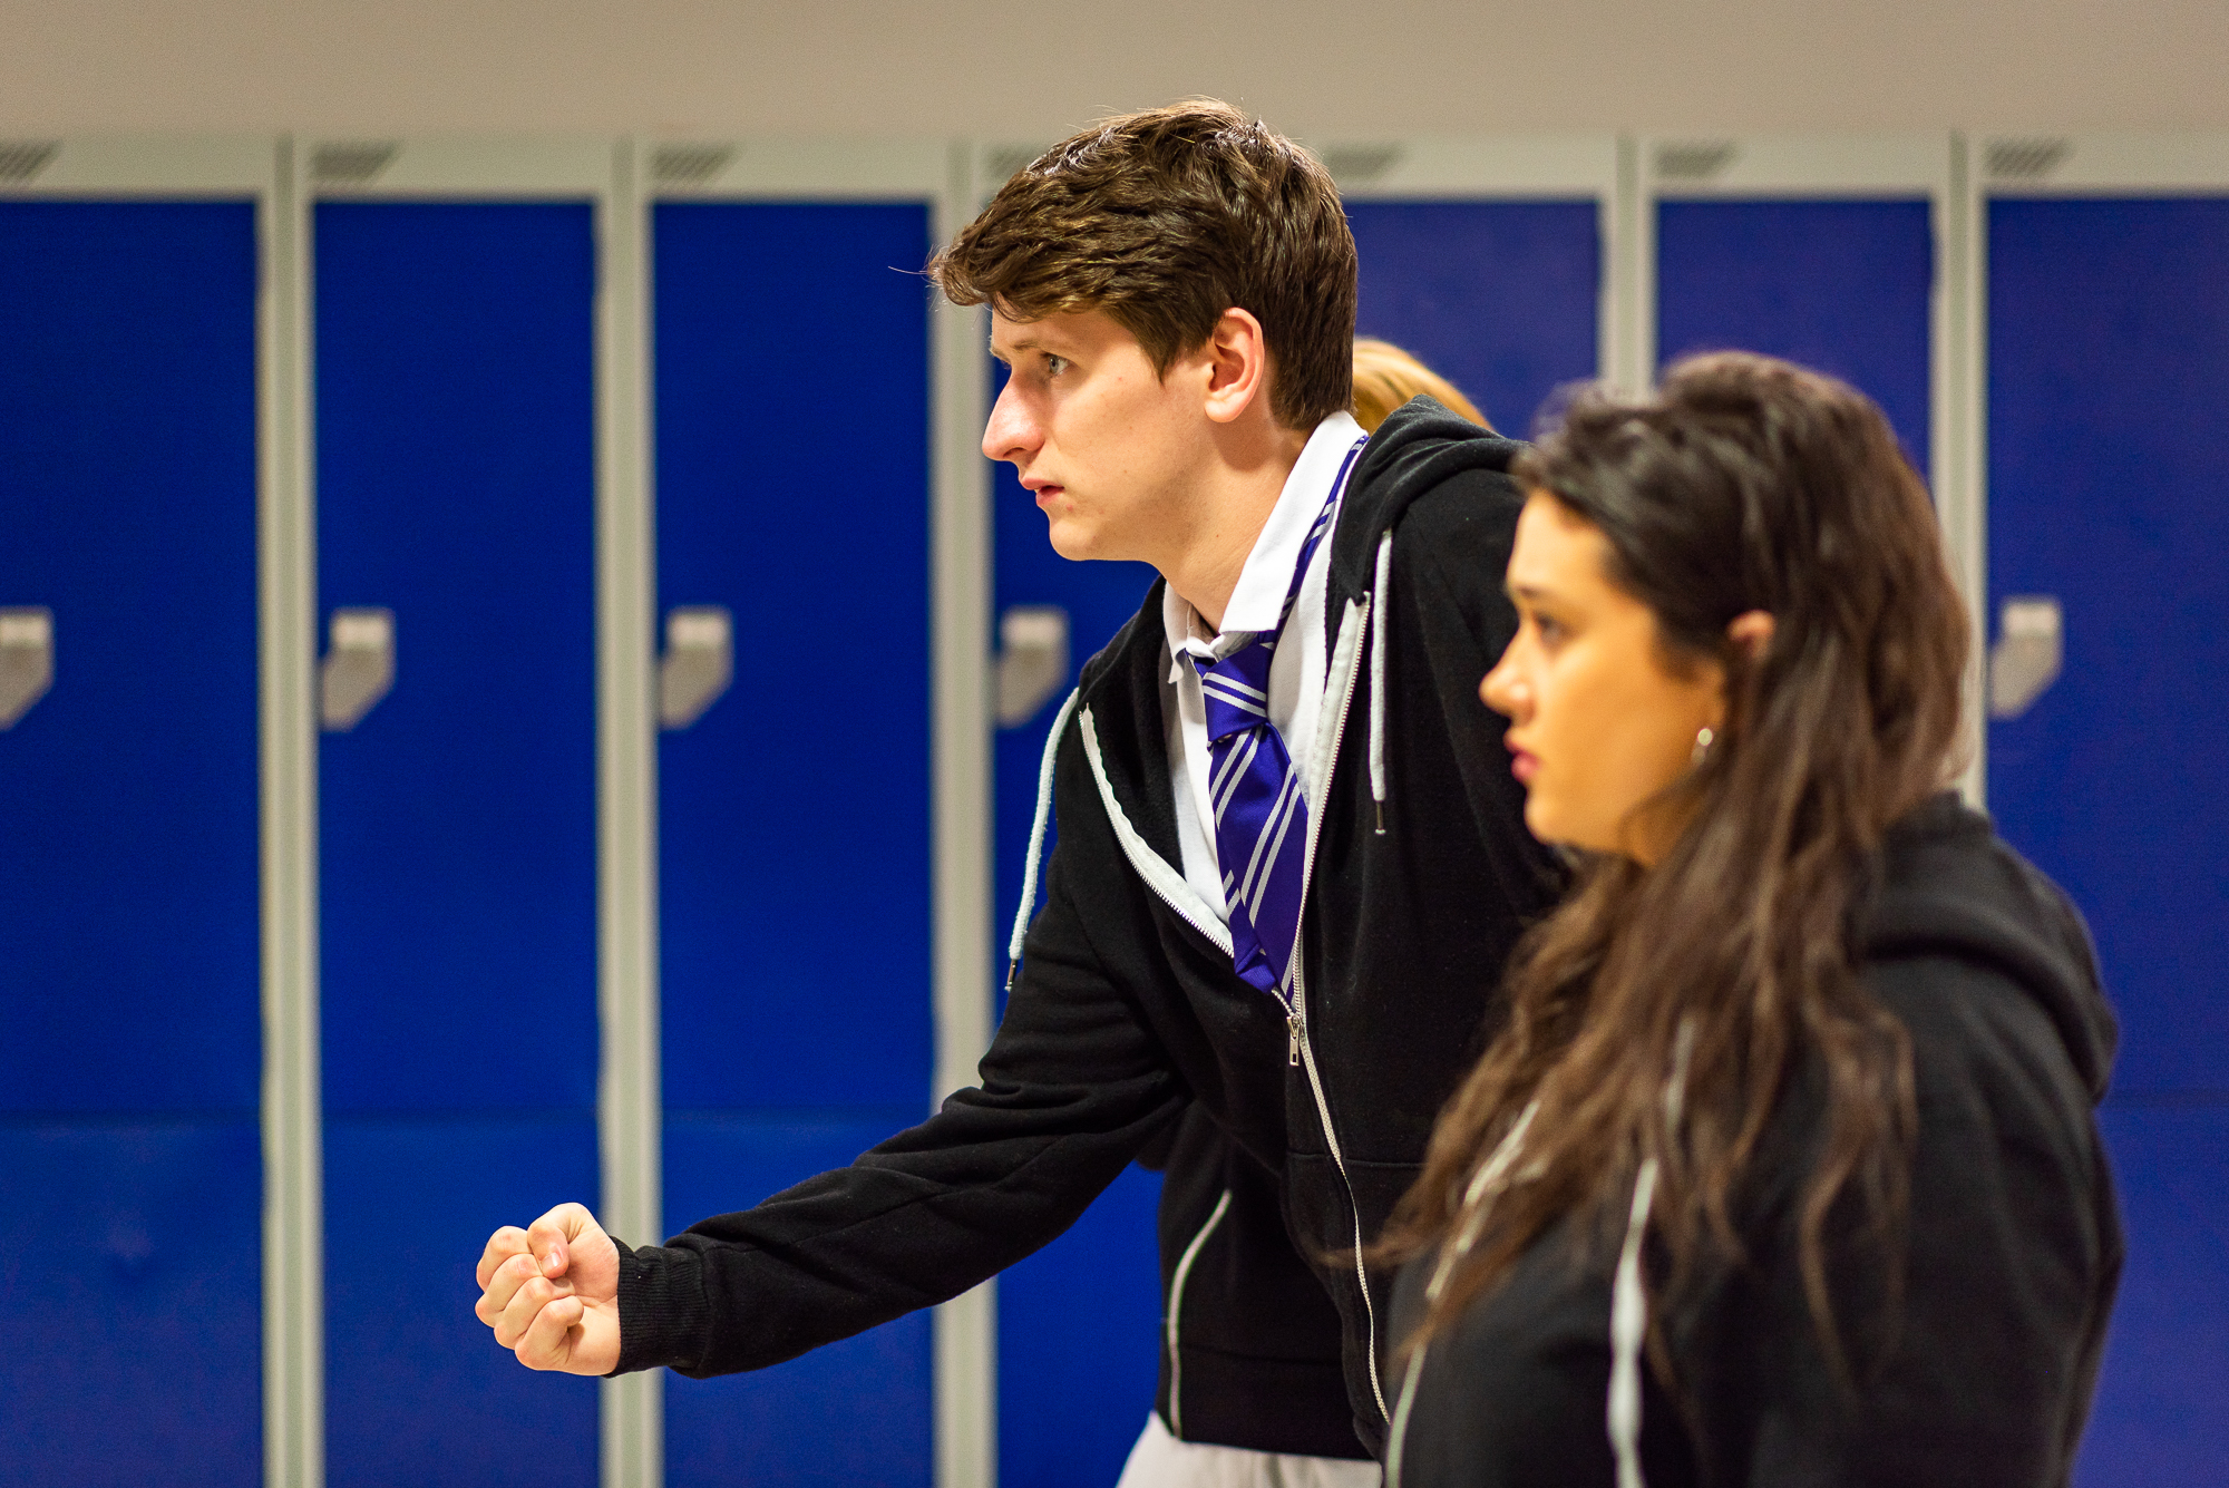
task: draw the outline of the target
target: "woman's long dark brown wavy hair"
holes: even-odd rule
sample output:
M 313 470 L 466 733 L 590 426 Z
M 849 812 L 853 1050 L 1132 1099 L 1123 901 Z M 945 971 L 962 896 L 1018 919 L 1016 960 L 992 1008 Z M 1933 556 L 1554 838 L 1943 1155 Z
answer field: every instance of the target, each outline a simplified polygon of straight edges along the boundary
M 1685 822 L 1663 860 L 1587 858 L 1518 947 L 1509 1022 L 1440 1114 L 1375 1256 L 1442 1243 L 1482 1158 L 1536 1107 L 1518 1178 L 1409 1345 L 1551 1225 L 1576 1218 L 1587 1245 L 1623 1234 L 1647 1158 L 1649 1236 L 1676 1290 L 1710 1254 L 1741 1259 L 1736 1194 L 1810 1065 L 1826 1125 L 1801 1187 L 1801 1272 L 1848 1381 L 1828 1214 L 1855 1201 L 1859 1232 L 1901 1234 L 1917 1120 L 1910 1038 L 1859 980 L 1855 918 L 1884 831 L 1948 782 L 1962 740 L 1966 610 L 1926 486 L 1863 394 L 1734 352 L 1681 361 L 1647 399 L 1580 392 L 1516 477 L 1600 530 L 1605 577 L 1654 613 L 1667 668 L 1725 668 L 1725 726 L 1645 804 Z M 1748 610 L 1774 617 L 1756 655 L 1727 639 Z M 1652 1354 L 1663 1368 L 1661 1339 Z

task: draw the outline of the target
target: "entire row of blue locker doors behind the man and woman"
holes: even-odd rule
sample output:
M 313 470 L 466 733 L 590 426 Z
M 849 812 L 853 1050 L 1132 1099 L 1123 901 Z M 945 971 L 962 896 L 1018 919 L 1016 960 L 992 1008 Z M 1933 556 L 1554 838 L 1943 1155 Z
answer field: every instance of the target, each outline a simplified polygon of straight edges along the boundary
M 1525 430 L 1556 385 L 1616 359 L 1616 321 L 1645 298 L 1663 354 L 1750 345 L 1841 372 L 1941 466 L 1941 430 L 1964 439 L 1944 412 L 1959 325 L 1944 194 L 1739 185 L 1647 203 L 1643 296 L 1614 272 L 1614 180 L 1404 198 L 1395 169 L 1353 194 L 1362 330 Z M 332 1481 L 588 1484 L 595 1386 L 517 1370 L 468 1301 L 493 1223 L 611 1183 L 609 207 L 546 187 L 350 189 L 305 212 L 317 617 L 383 615 L 392 677 L 317 760 L 323 1457 Z M 938 388 L 909 270 L 938 200 L 785 194 L 646 209 L 658 604 L 729 621 L 727 693 L 655 757 L 669 1230 L 914 1120 L 936 1067 Z M 18 1029 L 0 1045 L 16 1174 L 0 1234 L 20 1256 L 0 1316 L 22 1341 L 0 1365 L 0 1481 L 272 1466 L 256 991 L 270 218 L 256 196 L 138 196 L 0 200 L 0 608 L 49 617 L 53 657 L 47 693 L 0 733 L 0 978 Z M 2229 813 L 2207 686 L 2229 523 L 2200 417 L 2229 388 L 2229 203 L 2002 194 L 1979 227 L 1986 593 L 1990 608 L 2051 595 L 2066 617 L 2057 682 L 1990 726 L 1990 806 L 2091 913 L 2126 1022 L 2106 1127 L 2133 1256 L 2084 1481 L 2198 1477 L 2229 1399 L 2229 1014 L 2209 996 L 2229 884 L 2207 853 Z M 994 610 L 1061 606 L 1079 657 L 1150 577 L 1057 561 L 1005 477 L 990 526 Z M 992 744 L 1001 909 L 1048 715 Z M 1001 1481 L 1112 1481 L 1152 1392 L 1152 1196 L 1130 1174 L 1003 1279 Z M 932 1352 L 927 1319 L 907 1319 L 762 1377 L 673 1381 L 664 1477 L 927 1484 Z

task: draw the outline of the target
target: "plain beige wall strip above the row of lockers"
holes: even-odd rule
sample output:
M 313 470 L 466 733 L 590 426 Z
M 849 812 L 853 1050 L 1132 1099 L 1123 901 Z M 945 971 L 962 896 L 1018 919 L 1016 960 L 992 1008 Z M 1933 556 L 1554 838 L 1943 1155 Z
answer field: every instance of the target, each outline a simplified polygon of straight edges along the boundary
M 0 0 L 0 134 L 2222 129 L 2225 0 Z

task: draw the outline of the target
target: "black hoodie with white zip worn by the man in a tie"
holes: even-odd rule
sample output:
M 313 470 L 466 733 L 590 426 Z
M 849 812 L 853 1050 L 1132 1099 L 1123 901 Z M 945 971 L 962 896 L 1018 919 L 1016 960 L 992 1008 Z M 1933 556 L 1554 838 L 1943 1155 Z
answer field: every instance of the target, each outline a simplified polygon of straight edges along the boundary
M 1155 584 L 1054 724 L 1059 844 L 981 1085 L 849 1167 L 664 1247 L 622 1245 L 617 1370 L 753 1370 L 956 1296 L 1059 1236 L 1188 1103 L 1279 1190 L 1286 1254 L 1264 1265 L 1378 1234 L 1491 1034 L 1509 947 L 1560 889 L 1478 699 L 1516 628 L 1500 588 L 1516 450 L 1418 401 L 1349 481 L 1324 604 L 1317 748 L 1335 766 L 1311 802 L 1302 1016 L 1237 978 L 1228 931 L 1184 882 Z M 1262 1236 L 1264 1256 L 1277 1239 Z M 1384 1279 L 1320 1274 L 1375 1450 Z M 1322 1437 L 1306 1421 L 1264 1430 L 1271 1446 Z

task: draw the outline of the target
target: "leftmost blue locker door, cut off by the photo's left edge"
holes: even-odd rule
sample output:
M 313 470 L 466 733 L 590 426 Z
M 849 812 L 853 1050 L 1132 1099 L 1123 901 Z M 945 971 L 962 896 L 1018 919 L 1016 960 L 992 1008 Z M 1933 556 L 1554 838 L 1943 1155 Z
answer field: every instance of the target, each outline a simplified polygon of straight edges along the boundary
M 0 203 L 0 610 L 53 639 L 0 726 L 0 1484 L 252 1484 L 254 205 Z

